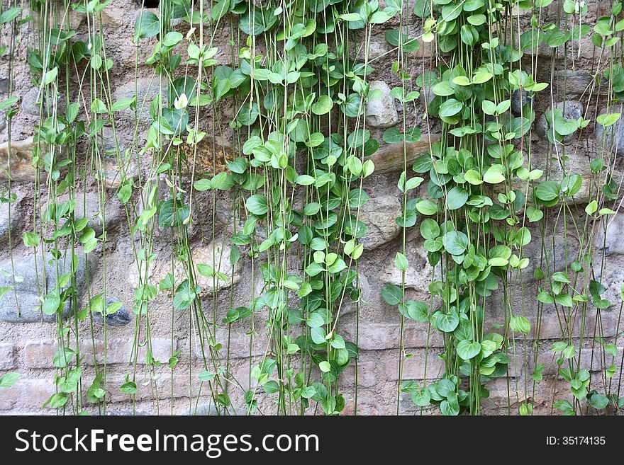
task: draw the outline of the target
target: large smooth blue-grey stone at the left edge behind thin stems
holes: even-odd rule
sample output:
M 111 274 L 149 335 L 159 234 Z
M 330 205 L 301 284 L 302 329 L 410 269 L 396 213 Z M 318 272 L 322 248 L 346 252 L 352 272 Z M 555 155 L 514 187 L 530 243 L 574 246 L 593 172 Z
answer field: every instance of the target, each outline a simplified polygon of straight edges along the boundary
M 89 273 L 96 268 L 96 260 L 91 256 L 89 260 L 84 257 L 79 249 L 78 267 L 74 273 L 78 294 L 78 302 L 82 299 L 82 292 L 87 284 L 87 268 Z M 59 275 L 70 270 L 69 256 L 67 259 L 58 260 Z M 15 276 L 21 280 L 16 282 L 15 289 L 11 289 L 0 299 L 0 321 L 12 323 L 31 323 L 35 321 L 55 321 L 55 315 L 45 315 L 40 311 L 39 296 L 45 294 L 45 289 L 55 289 L 56 286 L 56 264 L 52 256 L 48 254 L 45 263 L 41 256 L 26 256 L 23 258 L 13 258 Z M 87 267 L 87 263 L 89 266 Z M 11 260 L 0 263 L 0 270 L 8 272 L 7 277 L 0 274 L 0 287 L 13 287 L 13 275 L 11 274 Z M 18 279 L 20 279 L 18 278 Z M 17 294 L 17 295 L 16 295 Z M 19 314 L 18 314 L 19 309 Z M 69 316 L 70 306 L 66 304 L 62 312 L 63 317 Z

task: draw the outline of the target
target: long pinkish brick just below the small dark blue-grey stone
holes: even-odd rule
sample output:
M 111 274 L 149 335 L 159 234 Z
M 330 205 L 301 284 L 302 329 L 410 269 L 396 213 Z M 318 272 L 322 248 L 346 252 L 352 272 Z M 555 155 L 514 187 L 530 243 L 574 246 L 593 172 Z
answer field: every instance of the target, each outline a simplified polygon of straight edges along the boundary
M 177 344 L 174 343 L 174 350 Z M 80 355 L 82 362 L 87 365 L 94 364 L 93 343 L 89 339 L 80 341 Z M 104 364 L 104 341 L 95 341 L 96 359 L 98 364 Z M 117 338 L 108 338 L 106 344 L 106 364 L 123 364 L 130 361 L 133 350 L 133 341 Z M 138 364 L 145 364 L 147 349 L 141 347 L 138 350 Z M 24 348 L 25 364 L 28 368 L 50 368 L 52 358 L 57 352 L 55 340 L 28 341 Z M 160 362 L 167 362 L 171 357 L 171 340 L 165 338 L 152 338 L 152 357 Z

